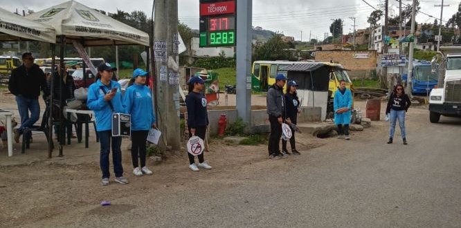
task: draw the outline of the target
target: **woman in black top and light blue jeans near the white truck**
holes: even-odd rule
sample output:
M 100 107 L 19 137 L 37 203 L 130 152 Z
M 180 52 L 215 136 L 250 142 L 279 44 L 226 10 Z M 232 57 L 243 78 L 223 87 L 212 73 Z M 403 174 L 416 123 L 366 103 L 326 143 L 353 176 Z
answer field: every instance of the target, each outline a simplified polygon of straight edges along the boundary
M 410 107 L 411 101 L 408 95 L 405 94 L 404 86 L 397 84 L 394 88 L 394 93 L 389 97 L 388 106 L 386 108 L 386 115 L 390 113 L 390 131 L 388 144 L 392 143 L 394 137 L 395 122 L 399 120 L 401 137 L 406 145 L 406 132 L 405 132 L 405 113 Z

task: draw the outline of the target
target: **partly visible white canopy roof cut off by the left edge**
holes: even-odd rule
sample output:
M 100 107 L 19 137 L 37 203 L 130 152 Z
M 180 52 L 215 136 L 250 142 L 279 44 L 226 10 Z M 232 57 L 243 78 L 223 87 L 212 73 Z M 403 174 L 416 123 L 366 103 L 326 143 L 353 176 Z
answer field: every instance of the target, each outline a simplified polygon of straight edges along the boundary
M 51 26 L 15 15 L 0 8 L 0 41 L 36 40 L 56 43 L 56 32 Z

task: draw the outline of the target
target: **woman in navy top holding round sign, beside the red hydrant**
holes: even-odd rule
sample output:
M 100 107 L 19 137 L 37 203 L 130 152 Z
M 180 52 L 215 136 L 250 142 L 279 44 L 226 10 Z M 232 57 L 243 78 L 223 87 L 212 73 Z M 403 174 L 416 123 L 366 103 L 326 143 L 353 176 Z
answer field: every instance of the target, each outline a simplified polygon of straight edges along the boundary
M 206 111 L 206 98 L 201 91 L 205 88 L 205 81 L 199 76 L 194 76 L 189 79 L 188 90 L 186 96 L 186 107 L 188 109 L 188 156 L 189 168 L 192 171 L 199 171 L 198 167 L 211 169 L 204 160 L 204 140 L 206 135 L 206 127 L 208 126 L 208 113 Z M 195 156 L 199 157 L 199 166 L 195 164 Z

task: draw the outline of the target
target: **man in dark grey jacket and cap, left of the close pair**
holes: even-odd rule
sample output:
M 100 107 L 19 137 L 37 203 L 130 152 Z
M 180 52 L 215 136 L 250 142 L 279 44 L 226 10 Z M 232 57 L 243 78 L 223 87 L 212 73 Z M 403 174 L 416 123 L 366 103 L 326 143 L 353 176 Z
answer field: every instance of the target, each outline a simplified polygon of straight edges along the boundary
M 287 77 L 280 74 L 275 77 L 275 84 L 267 91 L 266 105 L 269 122 L 271 123 L 271 136 L 269 137 L 269 158 L 287 158 L 280 153 L 280 137 L 282 137 L 282 123 L 285 117 L 285 101 L 283 96 L 283 86 L 287 82 Z

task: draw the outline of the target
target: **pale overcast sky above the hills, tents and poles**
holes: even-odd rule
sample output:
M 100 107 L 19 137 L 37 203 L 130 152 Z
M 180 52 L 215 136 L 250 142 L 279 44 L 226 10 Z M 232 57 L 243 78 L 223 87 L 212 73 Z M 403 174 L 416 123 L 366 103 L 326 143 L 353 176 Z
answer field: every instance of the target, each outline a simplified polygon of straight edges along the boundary
M 199 0 L 178 0 L 179 20 L 188 24 L 191 28 L 199 28 Z M 379 0 L 365 0 L 374 8 L 379 8 Z M 21 11 L 30 9 L 43 10 L 54 6 L 63 0 L 1 0 L 1 8 L 6 10 Z M 143 10 L 148 17 L 152 14 L 152 0 L 79 0 L 91 8 L 116 12 L 117 9 L 126 12 Z M 410 0 L 402 0 L 404 4 L 410 4 Z M 441 0 L 420 0 L 421 11 L 433 17 L 440 18 Z M 458 10 L 460 1 L 446 0 L 444 5 L 444 21 Z M 389 0 L 389 14 L 398 15 L 398 0 Z M 383 10 L 383 5 L 381 6 Z M 293 36 L 296 40 L 307 41 L 309 32 L 312 39 L 323 39 L 324 33 L 329 32 L 331 19 L 341 18 L 344 20 L 344 33 L 353 30 L 354 21 L 350 17 L 356 17 L 356 28 L 368 26 L 367 17 L 374 9 L 363 0 L 253 0 L 253 26 L 261 26 L 264 29 L 283 32 L 284 35 Z M 418 23 L 433 23 L 434 18 L 419 13 Z M 302 32 L 301 32 L 302 31 Z M 331 35 L 331 34 L 330 34 Z

